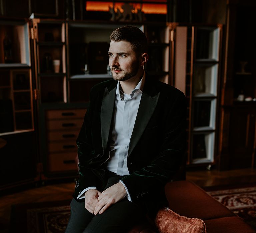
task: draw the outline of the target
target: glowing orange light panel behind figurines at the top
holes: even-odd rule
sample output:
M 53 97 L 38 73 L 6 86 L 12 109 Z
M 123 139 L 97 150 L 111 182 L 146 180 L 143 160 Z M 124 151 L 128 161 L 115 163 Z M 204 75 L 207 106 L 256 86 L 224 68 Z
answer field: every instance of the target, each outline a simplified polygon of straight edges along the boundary
M 130 3 L 131 4 L 131 3 Z M 117 9 L 120 10 L 120 12 L 123 12 L 123 9 L 121 6 L 123 3 L 116 3 L 115 4 L 115 11 L 117 12 Z M 138 9 L 140 9 L 139 3 L 132 3 L 134 7 L 134 13 L 138 12 Z M 94 1 L 87 1 L 86 2 L 86 10 L 87 11 L 109 11 L 109 8 L 113 7 L 113 2 L 94 2 Z M 166 4 L 142 4 L 142 11 L 145 14 L 167 14 L 167 5 Z

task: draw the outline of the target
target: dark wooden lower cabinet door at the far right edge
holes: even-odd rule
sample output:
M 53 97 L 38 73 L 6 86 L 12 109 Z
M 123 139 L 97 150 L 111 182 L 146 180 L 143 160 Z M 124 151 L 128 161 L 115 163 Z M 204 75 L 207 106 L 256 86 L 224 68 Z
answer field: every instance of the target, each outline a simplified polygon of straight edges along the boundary
M 235 107 L 230 122 L 230 169 L 251 167 L 255 131 L 255 109 Z

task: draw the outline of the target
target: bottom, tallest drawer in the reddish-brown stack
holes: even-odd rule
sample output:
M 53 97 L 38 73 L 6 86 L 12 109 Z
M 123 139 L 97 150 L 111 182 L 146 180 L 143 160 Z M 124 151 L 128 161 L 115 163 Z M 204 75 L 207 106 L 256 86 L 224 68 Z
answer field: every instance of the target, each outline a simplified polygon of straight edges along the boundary
M 56 153 L 49 154 L 49 170 L 50 171 L 75 171 L 78 170 L 76 164 L 77 153 Z

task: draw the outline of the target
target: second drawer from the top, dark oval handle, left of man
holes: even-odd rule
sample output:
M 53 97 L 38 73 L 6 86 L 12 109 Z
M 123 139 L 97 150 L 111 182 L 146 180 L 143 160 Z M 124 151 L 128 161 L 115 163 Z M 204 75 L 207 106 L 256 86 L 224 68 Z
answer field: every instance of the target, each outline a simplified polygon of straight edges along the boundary
M 65 130 L 65 129 L 81 129 L 84 119 L 72 120 L 48 120 L 46 121 L 47 130 Z

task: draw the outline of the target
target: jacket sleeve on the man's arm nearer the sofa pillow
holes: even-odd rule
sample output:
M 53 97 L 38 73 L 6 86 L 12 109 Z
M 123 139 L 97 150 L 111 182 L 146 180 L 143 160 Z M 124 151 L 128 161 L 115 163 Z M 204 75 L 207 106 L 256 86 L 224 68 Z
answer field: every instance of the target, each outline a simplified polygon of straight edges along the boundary
M 173 178 L 183 161 L 186 145 L 186 98 L 183 94 L 178 95 L 169 107 L 165 120 L 163 140 L 154 160 L 149 166 L 121 179 L 132 201 L 145 194 L 155 196 L 157 192 L 164 192 L 165 184 Z

